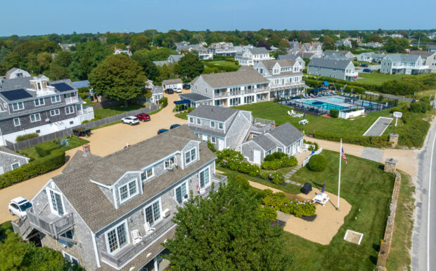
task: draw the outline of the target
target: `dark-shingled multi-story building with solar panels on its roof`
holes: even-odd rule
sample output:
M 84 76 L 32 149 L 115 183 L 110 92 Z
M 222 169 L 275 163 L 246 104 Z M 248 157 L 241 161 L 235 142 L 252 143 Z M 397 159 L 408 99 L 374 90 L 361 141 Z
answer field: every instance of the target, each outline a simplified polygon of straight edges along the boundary
M 0 144 L 15 143 L 18 135 L 45 135 L 94 119 L 70 79 L 17 77 L 0 82 Z

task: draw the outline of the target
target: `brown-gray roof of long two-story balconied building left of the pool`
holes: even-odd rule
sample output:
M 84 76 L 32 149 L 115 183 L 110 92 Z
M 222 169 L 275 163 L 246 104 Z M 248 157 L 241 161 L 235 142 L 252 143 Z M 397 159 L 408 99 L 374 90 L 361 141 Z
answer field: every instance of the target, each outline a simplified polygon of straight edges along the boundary
M 269 80 L 255 70 L 238 70 L 237 72 L 219 72 L 217 74 L 201 74 L 212 88 L 243 86 L 248 84 L 268 84 Z

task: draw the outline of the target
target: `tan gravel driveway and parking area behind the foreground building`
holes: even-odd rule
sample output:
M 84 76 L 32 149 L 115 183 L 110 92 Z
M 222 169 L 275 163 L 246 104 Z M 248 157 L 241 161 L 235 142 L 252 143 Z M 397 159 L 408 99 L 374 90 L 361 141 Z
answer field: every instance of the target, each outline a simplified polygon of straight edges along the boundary
M 190 91 L 184 91 L 189 93 Z M 157 135 L 160 128 L 169 128 L 172 124 L 186 124 L 187 121 L 174 117 L 174 101 L 179 100 L 179 95 L 172 94 L 167 95 L 168 106 L 160 110 L 160 112 L 150 116 L 150 121 L 141 122 L 139 125 L 129 126 L 127 124 L 115 124 L 99 128 L 92 131 L 92 135 L 89 138 L 89 145 L 91 145 L 91 152 L 99 156 L 105 156 L 122 150 L 126 144 L 134 145 L 143 140 L 151 138 L 153 135 Z M 65 155 L 70 158 L 77 152 L 82 150 L 82 147 L 77 147 L 65 152 Z M 68 164 L 65 163 L 65 165 Z M 47 181 L 53 176 L 58 176 L 62 173 L 65 165 L 60 168 L 37 176 L 30 180 L 6 187 L 0 190 L 0 223 L 4 223 L 8 220 L 16 219 L 16 216 L 11 216 L 8 211 L 8 203 L 15 197 L 25 197 L 32 199 L 35 194 L 44 186 Z

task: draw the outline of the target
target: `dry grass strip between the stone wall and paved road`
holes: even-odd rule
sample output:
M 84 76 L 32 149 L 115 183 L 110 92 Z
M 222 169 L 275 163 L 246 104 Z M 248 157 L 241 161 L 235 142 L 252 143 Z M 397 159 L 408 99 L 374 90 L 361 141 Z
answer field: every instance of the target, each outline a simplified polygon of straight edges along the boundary
M 401 173 L 397 211 L 395 213 L 394 234 L 387 256 L 387 270 L 410 270 L 413 232 L 413 193 L 415 187 L 409 175 Z

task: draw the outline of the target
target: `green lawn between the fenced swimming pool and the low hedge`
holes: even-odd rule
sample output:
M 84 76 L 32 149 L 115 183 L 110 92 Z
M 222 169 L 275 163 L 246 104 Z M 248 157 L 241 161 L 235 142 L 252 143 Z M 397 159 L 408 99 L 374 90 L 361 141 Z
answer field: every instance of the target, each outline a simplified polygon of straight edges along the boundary
M 378 117 L 390 116 L 389 110 L 382 110 L 368 114 L 366 117 L 357 117 L 353 121 L 348 119 L 334 119 L 328 117 L 317 117 L 306 114 L 306 119 L 309 124 L 301 125 L 298 121 L 301 119 L 288 116 L 288 110 L 291 107 L 280 105 L 274 102 L 253 103 L 250 105 L 241 105 L 233 107 L 238 110 L 248 110 L 252 112 L 253 117 L 262 119 L 271 119 L 276 121 L 277 125 L 290 122 L 297 128 L 302 128 L 307 133 L 315 133 L 316 131 L 328 131 L 331 133 L 344 133 L 349 135 L 363 135 L 365 131 L 373 124 Z M 390 128 L 387 128 L 389 130 Z M 385 131 L 388 133 L 388 131 Z

